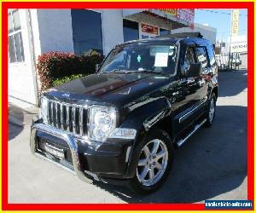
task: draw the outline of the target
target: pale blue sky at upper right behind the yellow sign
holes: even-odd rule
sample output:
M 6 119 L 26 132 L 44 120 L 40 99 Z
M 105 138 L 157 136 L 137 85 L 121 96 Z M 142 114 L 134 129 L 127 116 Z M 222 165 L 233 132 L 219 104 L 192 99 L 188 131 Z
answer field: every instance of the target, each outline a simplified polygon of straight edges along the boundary
M 208 24 L 217 28 L 217 40 L 230 37 L 230 21 L 232 9 L 195 9 L 195 23 Z M 247 35 L 247 9 L 239 11 L 239 33 Z

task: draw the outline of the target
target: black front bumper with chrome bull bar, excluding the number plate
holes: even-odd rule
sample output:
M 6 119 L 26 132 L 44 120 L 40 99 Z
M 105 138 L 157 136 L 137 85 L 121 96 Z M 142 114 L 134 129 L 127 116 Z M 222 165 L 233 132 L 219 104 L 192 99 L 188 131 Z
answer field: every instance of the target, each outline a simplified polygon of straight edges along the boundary
M 55 146 L 64 146 L 68 151 L 70 164 L 63 164 L 58 158 L 50 156 L 40 150 L 39 144 L 44 141 Z M 108 182 L 110 179 L 124 181 L 133 140 L 112 139 L 102 144 L 85 141 L 63 130 L 40 123 L 36 120 L 32 124 L 30 148 L 34 155 L 47 159 L 54 164 L 74 172 L 81 180 L 86 182 Z M 113 180 L 112 180 L 113 181 Z

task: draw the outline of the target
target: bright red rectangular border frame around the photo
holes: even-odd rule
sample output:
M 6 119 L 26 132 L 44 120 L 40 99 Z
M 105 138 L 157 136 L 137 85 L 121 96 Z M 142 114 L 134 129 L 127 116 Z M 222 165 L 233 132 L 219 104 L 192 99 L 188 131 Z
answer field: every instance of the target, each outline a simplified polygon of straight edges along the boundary
M 253 200 L 253 79 L 254 79 L 254 3 L 181 2 L 181 3 L 2 3 L 2 208 L 3 210 L 205 210 L 204 204 L 9 204 L 8 203 L 8 9 L 129 9 L 129 8 L 186 8 L 186 9 L 248 9 L 247 63 L 247 199 Z M 200 6 L 200 7 L 199 7 Z M 253 200 L 254 201 L 254 200 Z M 253 205 L 254 206 L 254 205 Z M 254 207 L 253 207 L 254 209 Z

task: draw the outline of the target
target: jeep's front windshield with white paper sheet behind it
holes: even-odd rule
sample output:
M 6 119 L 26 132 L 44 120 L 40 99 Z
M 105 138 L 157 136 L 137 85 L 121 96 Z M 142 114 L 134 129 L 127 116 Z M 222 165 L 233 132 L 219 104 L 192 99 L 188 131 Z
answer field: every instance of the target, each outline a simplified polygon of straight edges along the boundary
M 100 72 L 160 72 L 174 74 L 177 46 L 131 44 L 111 51 Z

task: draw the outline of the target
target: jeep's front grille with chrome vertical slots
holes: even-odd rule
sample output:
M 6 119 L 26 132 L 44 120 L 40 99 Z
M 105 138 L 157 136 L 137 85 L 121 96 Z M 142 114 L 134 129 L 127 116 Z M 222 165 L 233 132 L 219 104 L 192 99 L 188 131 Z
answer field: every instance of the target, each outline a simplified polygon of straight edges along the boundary
M 87 107 L 48 100 L 48 124 L 74 135 L 87 134 Z

